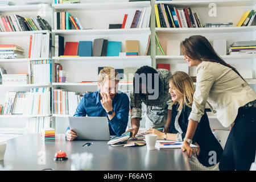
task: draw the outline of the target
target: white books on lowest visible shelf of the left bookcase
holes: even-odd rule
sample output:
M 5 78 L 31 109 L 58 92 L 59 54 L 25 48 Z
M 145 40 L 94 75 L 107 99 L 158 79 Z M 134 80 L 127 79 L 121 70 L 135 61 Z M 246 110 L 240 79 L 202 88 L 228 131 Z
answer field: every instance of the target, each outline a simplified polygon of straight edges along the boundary
M 28 133 L 40 134 L 43 129 L 51 127 L 52 117 L 36 117 L 29 118 L 27 129 Z

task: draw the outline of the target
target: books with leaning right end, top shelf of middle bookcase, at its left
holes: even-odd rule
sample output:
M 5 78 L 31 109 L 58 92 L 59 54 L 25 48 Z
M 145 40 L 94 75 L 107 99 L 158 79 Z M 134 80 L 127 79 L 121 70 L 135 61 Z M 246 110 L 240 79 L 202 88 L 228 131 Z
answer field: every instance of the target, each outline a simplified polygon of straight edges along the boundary
M 72 16 L 68 12 L 54 13 L 54 29 L 55 30 L 82 30 L 82 24 L 78 18 Z

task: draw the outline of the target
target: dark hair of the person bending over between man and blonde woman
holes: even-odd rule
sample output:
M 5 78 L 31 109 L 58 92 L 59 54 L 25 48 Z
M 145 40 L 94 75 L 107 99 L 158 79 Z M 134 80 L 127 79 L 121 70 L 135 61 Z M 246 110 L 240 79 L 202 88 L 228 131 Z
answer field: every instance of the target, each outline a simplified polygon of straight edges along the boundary
M 141 68 L 139 68 L 139 69 L 137 69 L 137 71 L 135 72 L 135 75 L 137 74 L 137 75 L 141 75 L 141 74 L 145 74 L 146 75 L 146 86 L 147 86 L 147 84 L 148 84 L 148 81 L 151 81 L 151 83 L 152 83 L 152 89 L 155 89 L 155 80 L 154 80 L 154 76 L 152 76 L 151 77 L 151 80 L 148 80 L 150 77 L 148 77 L 148 73 L 149 74 L 152 74 L 152 75 L 154 75 L 154 74 L 158 74 L 158 72 L 154 69 L 154 68 L 152 68 L 152 67 L 148 67 L 148 66 L 143 66 L 143 67 L 141 67 Z M 148 95 L 150 95 L 150 94 L 144 94 L 144 93 L 142 93 L 142 90 L 141 89 L 139 89 L 139 93 L 136 93 L 135 92 L 135 86 L 138 86 L 138 84 L 137 83 L 135 83 L 135 81 L 136 81 L 136 79 L 135 79 L 135 76 L 134 76 L 134 78 L 133 78 L 133 94 L 134 94 L 134 107 L 139 107 L 139 101 L 141 101 L 143 98 L 144 98 L 144 100 L 146 100 L 146 106 L 147 106 L 147 113 L 149 113 L 150 112 L 150 110 L 151 110 L 151 106 L 154 106 L 155 105 L 155 102 L 156 102 L 156 100 L 148 100 Z M 159 86 L 159 88 L 158 88 L 158 90 L 159 90 L 159 94 L 161 93 L 161 82 L 160 82 L 160 76 L 159 76 L 159 74 L 158 74 L 158 86 Z M 141 77 L 139 77 L 139 85 L 140 84 L 142 84 L 142 78 Z M 138 88 L 137 88 L 138 89 Z

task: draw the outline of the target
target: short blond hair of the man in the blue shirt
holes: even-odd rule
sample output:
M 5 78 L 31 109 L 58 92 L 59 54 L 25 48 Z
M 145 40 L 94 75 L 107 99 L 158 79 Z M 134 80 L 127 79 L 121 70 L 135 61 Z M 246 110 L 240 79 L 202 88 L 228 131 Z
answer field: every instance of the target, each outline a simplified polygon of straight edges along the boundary
M 120 77 L 118 72 L 112 67 L 105 67 L 101 69 L 100 73 L 98 74 L 98 82 L 102 83 L 105 80 L 115 80 L 119 81 Z

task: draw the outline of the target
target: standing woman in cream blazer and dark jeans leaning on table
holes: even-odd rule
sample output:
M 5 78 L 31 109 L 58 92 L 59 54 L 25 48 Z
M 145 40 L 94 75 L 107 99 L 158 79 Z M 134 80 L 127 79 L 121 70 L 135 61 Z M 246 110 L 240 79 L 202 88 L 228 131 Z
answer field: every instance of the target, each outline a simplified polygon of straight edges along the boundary
M 190 36 L 180 44 L 188 66 L 196 66 L 196 90 L 183 151 L 192 156 L 192 142 L 205 104 L 224 126 L 232 126 L 220 160 L 220 170 L 249 170 L 256 151 L 256 93 L 240 73 L 225 63 L 209 41 Z

